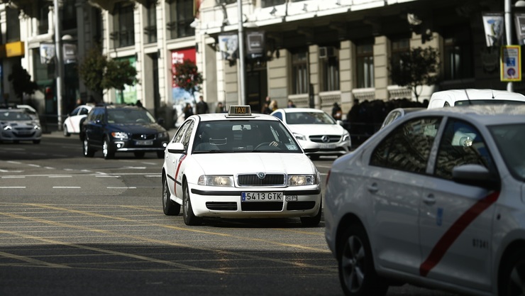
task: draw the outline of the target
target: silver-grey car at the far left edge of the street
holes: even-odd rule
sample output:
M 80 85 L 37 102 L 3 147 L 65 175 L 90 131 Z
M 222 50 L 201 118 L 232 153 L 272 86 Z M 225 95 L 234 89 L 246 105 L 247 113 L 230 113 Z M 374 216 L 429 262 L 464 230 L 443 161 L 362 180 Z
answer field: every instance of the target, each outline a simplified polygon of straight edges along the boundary
M 32 141 L 40 143 L 42 128 L 26 109 L 0 109 L 0 143 L 4 141 Z

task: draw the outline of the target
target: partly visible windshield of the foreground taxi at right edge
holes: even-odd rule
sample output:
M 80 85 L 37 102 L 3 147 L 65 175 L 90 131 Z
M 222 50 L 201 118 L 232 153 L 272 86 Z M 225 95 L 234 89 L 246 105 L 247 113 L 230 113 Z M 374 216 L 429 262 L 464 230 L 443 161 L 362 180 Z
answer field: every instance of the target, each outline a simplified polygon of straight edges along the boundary
M 525 124 L 490 126 L 489 130 L 512 176 L 525 181 Z

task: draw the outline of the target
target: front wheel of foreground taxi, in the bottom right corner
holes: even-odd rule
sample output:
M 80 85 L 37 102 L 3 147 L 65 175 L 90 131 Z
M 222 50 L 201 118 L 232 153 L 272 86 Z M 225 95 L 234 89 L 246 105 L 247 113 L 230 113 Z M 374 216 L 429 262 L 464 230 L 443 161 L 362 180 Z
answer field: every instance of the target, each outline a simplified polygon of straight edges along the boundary
M 499 274 L 500 296 L 524 295 L 525 253 L 522 248 L 506 256 Z

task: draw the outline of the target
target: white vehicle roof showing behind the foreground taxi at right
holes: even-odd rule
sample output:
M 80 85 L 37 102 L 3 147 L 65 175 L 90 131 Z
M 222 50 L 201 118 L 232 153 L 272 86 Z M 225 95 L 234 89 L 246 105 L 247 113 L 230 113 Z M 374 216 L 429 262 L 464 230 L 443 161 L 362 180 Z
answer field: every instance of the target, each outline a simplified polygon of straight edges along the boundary
M 434 92 L 429 100 L 429 109 L 447 106 L 524 103 L 525 96 L 517 92 L 496 89 L 450 89 Z

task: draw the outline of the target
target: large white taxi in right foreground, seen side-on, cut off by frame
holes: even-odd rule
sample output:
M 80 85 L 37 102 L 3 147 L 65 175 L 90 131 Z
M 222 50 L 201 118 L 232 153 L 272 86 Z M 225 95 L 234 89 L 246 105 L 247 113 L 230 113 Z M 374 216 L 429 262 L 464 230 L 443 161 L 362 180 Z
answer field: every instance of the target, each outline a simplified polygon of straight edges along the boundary
M 524 295 L 524 135 L 525 105 L 429 109 L 335 160 L 325 235 L 345 294 Z

